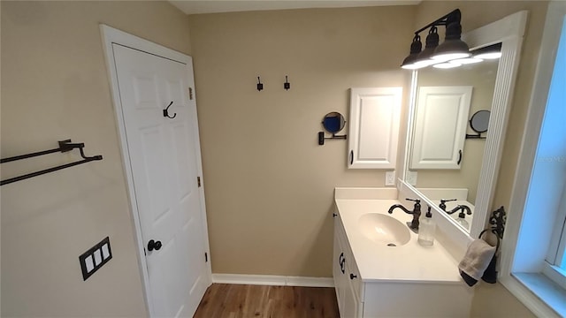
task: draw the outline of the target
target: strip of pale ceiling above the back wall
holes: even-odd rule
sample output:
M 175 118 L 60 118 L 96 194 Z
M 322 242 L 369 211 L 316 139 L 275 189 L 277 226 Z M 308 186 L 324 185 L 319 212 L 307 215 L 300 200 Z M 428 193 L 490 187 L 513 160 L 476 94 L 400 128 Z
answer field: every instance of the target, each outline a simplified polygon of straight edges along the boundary
M 169 0 L 187 14 L 234 11 L 262 11 L 307 8 L 346 8 L 362 6 L 414 5 L 409 0 Z

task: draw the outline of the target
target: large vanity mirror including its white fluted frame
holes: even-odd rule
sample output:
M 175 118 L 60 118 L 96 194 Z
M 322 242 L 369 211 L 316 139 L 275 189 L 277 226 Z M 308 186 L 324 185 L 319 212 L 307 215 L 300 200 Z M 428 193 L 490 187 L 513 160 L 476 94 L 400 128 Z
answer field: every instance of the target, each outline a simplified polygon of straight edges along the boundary
M 501 162 L 526 17 L 526 11 L 516 12 L 463 34 L 463 41 L 471 50 L 501 45 L 498 59 L 453 69 L 429 66 L 413 72 L 402 185 L 431 205 L 435 214 L 445 220 L 440 223 L 452 228 L 448 232 L 461 238 L 477 238 L 486 225 Z M 463 105 L 458 104 L 457 110 L 440 107 L 436 113 L 421 109 L 427 103 L 424 96 L 435 94 L 455 96 L 453 101 L 447 101 Z M 489 111 L 478 115 L 489 115 L 487 131 L 480 134 L 486 139 L 478 138 L 478 133 L 470 127 L 471 117 L 480 110 Z M 430 127 L 440 128 L 431 130 Z M 462 133 L 475 137 L 458 144 L 454 135 Z M 446 202 L 440 208 L 443 199 Z M 465 205 L 470 210 L 460 208 L 452 215 L 445 212 L 455 210 L 457 205 Z M 465 222 L 458 220 L 461 212 Z

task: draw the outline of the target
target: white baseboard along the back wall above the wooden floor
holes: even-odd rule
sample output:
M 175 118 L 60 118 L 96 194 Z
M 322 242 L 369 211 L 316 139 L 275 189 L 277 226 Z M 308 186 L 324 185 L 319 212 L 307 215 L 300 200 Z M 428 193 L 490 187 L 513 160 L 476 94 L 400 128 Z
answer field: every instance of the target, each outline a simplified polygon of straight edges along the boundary
M 272 286 L 334 287 L 332 277 L 275 276 L 212 274 L 212 283 L 218 284 L 261 284 Z

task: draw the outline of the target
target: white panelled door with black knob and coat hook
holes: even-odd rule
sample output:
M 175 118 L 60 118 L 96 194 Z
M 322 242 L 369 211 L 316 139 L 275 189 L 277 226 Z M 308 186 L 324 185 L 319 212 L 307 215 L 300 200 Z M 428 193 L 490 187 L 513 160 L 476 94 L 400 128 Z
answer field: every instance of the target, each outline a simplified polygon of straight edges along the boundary
M 192 316 L 208 287 L 196 110 L 188 91 L 192 65 L 112 46 L 134 179 L 131 195 L 146 249 L 151 314 Z M 164 117 L 171 102 L 169 117 Z

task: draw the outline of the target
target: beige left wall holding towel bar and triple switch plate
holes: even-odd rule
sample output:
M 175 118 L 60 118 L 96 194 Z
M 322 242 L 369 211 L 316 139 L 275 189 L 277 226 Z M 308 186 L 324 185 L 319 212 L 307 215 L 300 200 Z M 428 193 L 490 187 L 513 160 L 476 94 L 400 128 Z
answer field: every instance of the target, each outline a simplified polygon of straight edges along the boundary
M 98 24 L 190 53 L 166 2 L 2 1 L 2 157 L 85 142 L 87 163 L 2 186 L 2 316 L 145 316 L 134 229 Z M 4 163 L 2 178 L 77 160 Z M 110 236 L 87 281 L 79 255 Z

